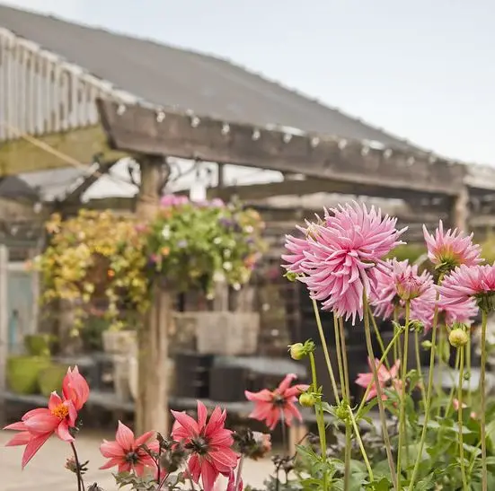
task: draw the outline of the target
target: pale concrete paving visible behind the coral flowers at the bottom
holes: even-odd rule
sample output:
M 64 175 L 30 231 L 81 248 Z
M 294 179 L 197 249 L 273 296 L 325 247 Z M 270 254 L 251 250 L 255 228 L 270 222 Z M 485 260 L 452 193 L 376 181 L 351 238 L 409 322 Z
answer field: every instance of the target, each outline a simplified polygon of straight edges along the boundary
M 6 448 L 4 444 L 13 432 L 0 431 L 0 491 L 76 491 L 75 475 L 64 468 L 66 459 L 71 456 L 70 447 L 57 438 L 51 438 L 31 460 L 26 469 L 21 470 L 23 447 Z M 111 434 L 90 434 L 84 432 L 77 437 L 77 451 L 80 459 L 90 460 L 86 474 L 86 485 L 98 482 L 104 491 L 117 491 L 108 470 L 98 468 L 104 462 L 99 452 L 102 438 L 114 439 Z M 261 487 L 273 469 L 270 460 L 246 460 L 243 478 L 246 484 Z M 224 483 L 219 483 L 218 491 L 225 491 Z

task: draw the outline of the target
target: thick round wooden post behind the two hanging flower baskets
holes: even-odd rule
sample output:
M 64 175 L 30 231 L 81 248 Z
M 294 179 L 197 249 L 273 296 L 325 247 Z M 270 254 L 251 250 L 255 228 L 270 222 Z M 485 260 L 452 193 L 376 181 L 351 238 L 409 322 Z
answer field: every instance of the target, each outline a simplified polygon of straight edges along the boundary
M 145 222 L 153 219 L 159 206 L 163 164 L 162 156 L 146 156 L 140 162 L 137 217 Z M 168 434 L 168 330 L 172 308 L 172 294 L 162 285 L 154 285 L 151 308 L 137 333 L 137 434 L 152 430 Z

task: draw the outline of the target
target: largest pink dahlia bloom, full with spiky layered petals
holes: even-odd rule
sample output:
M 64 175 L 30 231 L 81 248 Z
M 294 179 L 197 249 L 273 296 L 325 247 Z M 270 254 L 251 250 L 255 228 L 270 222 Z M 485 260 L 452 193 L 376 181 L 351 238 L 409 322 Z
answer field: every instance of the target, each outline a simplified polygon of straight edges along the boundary
M 346 320 L 363 317 L 363 293 L 376 290 L 376 272 L 384 269 L 384 257 L 400 243 L 406 229 L 395 228 L 396 219 L 382 217 L 375 207 L 358 203 L 325 210 L 325 224 L 314 225 L 301 278 L 323 309 Z

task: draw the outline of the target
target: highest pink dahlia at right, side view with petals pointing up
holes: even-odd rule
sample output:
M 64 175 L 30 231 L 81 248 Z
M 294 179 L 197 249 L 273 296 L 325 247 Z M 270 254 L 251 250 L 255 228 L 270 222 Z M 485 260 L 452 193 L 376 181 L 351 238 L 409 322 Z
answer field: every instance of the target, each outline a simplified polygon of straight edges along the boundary
M 429 260 L 438 267 L 444 266 L 450 271 L 462 264 L 475 266 L 482 262 L 481 247 L 473 244 L 473 233 L 464 235 L 457 229 L 444 232 L 444 224 L 440 220 L 435 235 L 430 235 L 425 225 L 423 234 Z

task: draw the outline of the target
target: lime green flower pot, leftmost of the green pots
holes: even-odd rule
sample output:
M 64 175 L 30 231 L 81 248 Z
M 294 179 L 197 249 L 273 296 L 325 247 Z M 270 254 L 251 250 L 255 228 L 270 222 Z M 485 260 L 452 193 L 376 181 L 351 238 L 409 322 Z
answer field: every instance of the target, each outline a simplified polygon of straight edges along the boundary
M 7 384 L 17 394 L 36 394 L 40 372 L 50 365 L 45 356 L 9 356 L 7 358 Z

